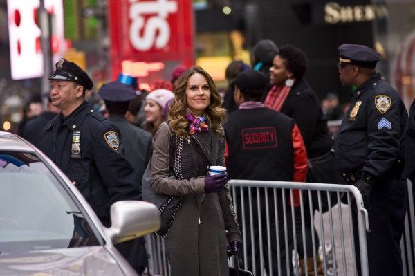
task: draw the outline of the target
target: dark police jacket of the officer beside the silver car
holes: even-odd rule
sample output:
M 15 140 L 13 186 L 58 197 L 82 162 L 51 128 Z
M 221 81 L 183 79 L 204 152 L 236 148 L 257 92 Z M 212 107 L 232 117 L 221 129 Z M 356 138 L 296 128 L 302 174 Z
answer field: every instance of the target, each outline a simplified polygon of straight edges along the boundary
M 133 186 L 136 171 L 122 152 L 120 131 L 86 102 L 66 118 L 60 113 L 50 121 L 42 131 L 40 149 L 80 190 L 98 217 L 109 217 L 116 201 L 140 198 Z

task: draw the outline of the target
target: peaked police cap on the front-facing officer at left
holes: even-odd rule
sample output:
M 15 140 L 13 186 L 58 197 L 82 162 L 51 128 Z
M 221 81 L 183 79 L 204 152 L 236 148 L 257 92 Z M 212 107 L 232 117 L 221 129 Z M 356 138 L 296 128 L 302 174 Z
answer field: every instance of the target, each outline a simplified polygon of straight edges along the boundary
M 57 62 L 55 73 L 49 77 L 49 80 L 69 80 L 84 86 L 86 90 L 91 90 L 93 87 L 93 82 L 88 74 L 80 66 L 64 58 Z

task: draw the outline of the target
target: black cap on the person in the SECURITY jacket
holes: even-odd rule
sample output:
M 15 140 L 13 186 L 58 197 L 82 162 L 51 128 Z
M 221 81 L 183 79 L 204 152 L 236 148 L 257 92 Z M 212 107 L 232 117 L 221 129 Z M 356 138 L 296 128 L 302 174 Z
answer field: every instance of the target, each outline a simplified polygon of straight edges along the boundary
M 241 91 L 263 91 L 268 79 L 264 73 L 249 69 L 239 73 L 232 83 Z

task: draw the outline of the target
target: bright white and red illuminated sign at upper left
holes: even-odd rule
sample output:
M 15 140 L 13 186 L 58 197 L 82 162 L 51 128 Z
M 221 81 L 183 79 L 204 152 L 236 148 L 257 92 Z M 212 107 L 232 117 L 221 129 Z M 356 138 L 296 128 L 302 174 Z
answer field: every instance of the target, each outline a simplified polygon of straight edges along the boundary
M 44 61 L 41 30 L 37 22 L 39 0 L 8 0 L 8 30 L 10 64 L 13 80 L 42 77 Z M 54 15 L 53 53 L 60 53 L 64 45 L 62 0 L 44 0 L 46 10 Z

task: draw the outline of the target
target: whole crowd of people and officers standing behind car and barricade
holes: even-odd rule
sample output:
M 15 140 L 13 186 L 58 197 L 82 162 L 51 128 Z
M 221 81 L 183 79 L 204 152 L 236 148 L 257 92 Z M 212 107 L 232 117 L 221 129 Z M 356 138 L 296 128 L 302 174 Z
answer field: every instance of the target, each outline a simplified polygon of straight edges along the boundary
M 142 176 L 151 161 L 151 189 L 181 199 L 165 237 L 172 275 L 228 275 L 228 255 L 240 252 L 243 243 L 238 226 L 242 210 L 234 210 L 228 179 L 356 186 L 369 210 L 370 275 L 401 275 L 405 185 L 415 175 L 410 151 L 414 114 L 409 113 L 407 124 L 399 94 L 375 71 L 380 59 L 375 50 L 356 44 L 338 50 L 339 60 L 333 62 L 338 62 L 340 82 L 357 87 L 343 110 L 336 93 L 320 102 L 306 82 L 307 57 L 301 49 L 278 47 L 270 40 L 252 48 L 252 67 L 234 61 L 224 68 L 229 84 L 224 98 L 203 68 L 178 66 L 172 80 L 155 83 L 153 91 L 138 91 L 136 78 L 121 74 L 98 89 L 104 103 L 100 111 L 85 99 L 93 88 L 89 75 L 61 59 L 50 77 L 47 112 L 37 112 L 19 133 L 62 169 L 104 226 L 109 225 L 111 203 L 141 199 Z M 328 119 L 342 120 L 334 142 Z M 225 165 L 227 172 L 210 175 L 211 165 Z M 298 213 L 298 190 L 293 196 L 287 202 Z M 308 205 L 308 196 L 303 199 Z M 305 267 L 324 275 L 322 261 L 317 259 L 315 268 L 310 257 L 317 248 L 311 244 L 316 231 L 309 212 L 306 208 L 306 252 L 302 232 L 297 233 L 299 266 L 303 275 Z M 295 218 L 301 228 L 299 213 Z M 282 223 L 271 223 L 271 231 Z M 315 240 L 318 246 L 316 235 Z M 142 273 L 146 259 L 138 252 L 145 251 L 144 241 L 117 248 Z M 259 248 L 246 248 L 259 257 Z M 360 269 L 358 257 L 356 261 Z M 293 268 L 284 269 L 282 275 L 288 275 Z

